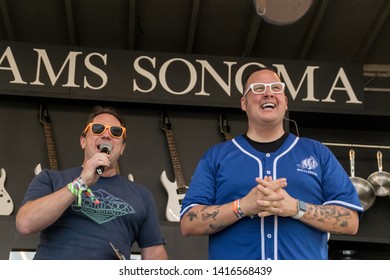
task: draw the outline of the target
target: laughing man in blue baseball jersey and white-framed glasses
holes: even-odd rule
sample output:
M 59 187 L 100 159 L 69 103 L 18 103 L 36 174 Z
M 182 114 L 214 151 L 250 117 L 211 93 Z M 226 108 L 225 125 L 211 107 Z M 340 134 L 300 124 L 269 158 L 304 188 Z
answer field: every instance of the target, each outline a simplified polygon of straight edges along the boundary
M 356 234 L 358 194 L 332 152 L 284 130 L 285 84 L 271 69 L 244 82 L 248 130 L 209 149 L 181 210 L 184 236 L 209 235 L 210 259 L 328 259 L 327 237 Z

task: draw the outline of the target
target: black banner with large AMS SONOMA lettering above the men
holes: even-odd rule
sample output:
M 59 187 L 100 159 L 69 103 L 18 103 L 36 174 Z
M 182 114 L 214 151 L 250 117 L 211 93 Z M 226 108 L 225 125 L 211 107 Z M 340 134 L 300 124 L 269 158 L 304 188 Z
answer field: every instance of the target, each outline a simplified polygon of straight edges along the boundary
M 292 110 L 364 110 L 363 65 L 0 43 L 0 94 L 239 108 L 242 81 L 276 67 Z

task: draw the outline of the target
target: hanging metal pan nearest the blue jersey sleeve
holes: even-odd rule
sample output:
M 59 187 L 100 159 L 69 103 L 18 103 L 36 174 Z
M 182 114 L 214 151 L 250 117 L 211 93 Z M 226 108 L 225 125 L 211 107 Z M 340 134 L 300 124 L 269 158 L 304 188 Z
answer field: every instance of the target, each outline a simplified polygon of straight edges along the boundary
M 351 164 L 351 181 L 355 186 L 355 189 L 359 195 L 360 203 L 364 210 L 370 209 L 370 207 L 375 202 L 375 190 L 370 182 L 364 180 L 363 178 L 355 177 L 355 151 L 349 151 L 349 160 Z

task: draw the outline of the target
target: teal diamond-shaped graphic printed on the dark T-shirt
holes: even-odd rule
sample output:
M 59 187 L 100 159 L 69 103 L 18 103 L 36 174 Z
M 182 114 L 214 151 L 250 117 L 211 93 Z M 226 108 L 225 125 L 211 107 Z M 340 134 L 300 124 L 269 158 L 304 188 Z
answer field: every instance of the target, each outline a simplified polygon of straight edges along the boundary
M 74 211 L 81 211 L 98 224 L 107 223 L 120 216 L 134 214 L 135 210 L 122 199 L 112 196 L 104 190 L 93 191 L 100 203 L 95 205 L 83 195 L 82 206 L 72 205 Z

